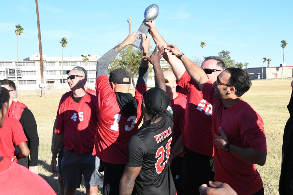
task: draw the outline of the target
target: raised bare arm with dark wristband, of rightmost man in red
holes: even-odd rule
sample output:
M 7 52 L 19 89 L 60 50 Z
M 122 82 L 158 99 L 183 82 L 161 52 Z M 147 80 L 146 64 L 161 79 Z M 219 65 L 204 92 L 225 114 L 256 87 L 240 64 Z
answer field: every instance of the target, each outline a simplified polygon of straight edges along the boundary
M 166 49 L 168 49 L 172 55 L 176 56 L 178 59 L 180 57 L 180 60 L 182 61 L 183 65 L 185 66 L 186 71 L 190 75 L 190 77 L 197 82 L 200 89 L 202 90 L 203 85 L 209 81 L 209 78 L 205 74 L 205 71 L 203 71 L 199 66 L 194 64 L 188 57 L 185 55 L 181 55 L 182 52 L 178 49 L 176 45 L 167 45 Z

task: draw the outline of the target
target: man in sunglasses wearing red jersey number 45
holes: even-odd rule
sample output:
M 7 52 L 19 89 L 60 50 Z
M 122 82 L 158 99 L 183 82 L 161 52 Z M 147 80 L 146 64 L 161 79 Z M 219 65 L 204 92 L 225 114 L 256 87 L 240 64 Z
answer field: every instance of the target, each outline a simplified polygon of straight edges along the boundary
M 68 73 L 67 80 L 72 92 L 58 109 L 51 171 L 57 173 L 56 158 L 63 141 L 61 171 L 65 194 L 75 193 L 76 188 L 80 187 L 82 175 L 86 182 L 86 194 L 97 194 L 97 186 L 103 183 L 103 179 L 98 172 L 100 160 L 92 155 L 98 121 L 96 96 L 84 90 L 87 80 L 84 68 L 74 67 Z

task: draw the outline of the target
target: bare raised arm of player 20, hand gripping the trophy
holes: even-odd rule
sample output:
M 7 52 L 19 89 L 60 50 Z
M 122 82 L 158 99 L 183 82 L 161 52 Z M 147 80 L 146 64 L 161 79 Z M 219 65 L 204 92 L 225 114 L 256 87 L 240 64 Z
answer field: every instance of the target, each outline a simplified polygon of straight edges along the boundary
M 149 34 L 153 37 L 153 40 L 156 44 L 159 44 L 158 48 L 161 48 L 163 45 L 168 45 L 168 43 L 163 39 L 159 34 L 155 21 L 146 22 L 149 25 Z M 183 73 L 185 72 L 185 67 L 182 62 L 170 52 L 165 51 L 163 53 L 163 58 L 171 65 L 173 73 L 175 74 L 177 80 L 180 80 Z

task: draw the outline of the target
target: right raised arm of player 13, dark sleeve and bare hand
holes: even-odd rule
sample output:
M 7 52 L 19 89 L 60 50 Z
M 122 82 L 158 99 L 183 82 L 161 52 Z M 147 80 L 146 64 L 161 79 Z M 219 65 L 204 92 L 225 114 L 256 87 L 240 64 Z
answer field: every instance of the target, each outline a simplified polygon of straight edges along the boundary
M 142 56 L 148 56 L 149 55 L 149 44 L 151 40 L 149 38 L 149 35 L 142 34 Z M 139 69 L 138 69 L 138 79 L 136 86 L 144 83 L 147 85 L 147 78 L 149 76 L 149 61 L 147 59 L 142 58 L 140 61 Z

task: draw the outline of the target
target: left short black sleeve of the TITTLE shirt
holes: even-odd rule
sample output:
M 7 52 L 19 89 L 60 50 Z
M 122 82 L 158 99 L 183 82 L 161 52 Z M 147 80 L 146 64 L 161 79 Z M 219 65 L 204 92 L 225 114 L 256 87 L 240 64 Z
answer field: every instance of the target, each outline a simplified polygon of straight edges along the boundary
M 142 166 L 142 160 L 145 155 L 145 145 L 143 141 L 137 137 L 132 136 L 127 143 L 127 163 L 128 167 Z

